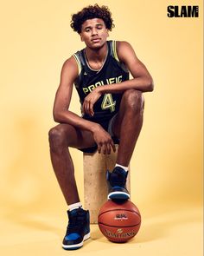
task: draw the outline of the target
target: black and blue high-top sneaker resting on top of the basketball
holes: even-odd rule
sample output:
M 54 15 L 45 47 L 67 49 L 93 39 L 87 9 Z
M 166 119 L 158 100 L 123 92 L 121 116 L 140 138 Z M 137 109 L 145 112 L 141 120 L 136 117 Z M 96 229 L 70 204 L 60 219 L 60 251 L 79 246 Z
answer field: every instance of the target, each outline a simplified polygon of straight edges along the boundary
M 112 173 L 106 172 L 108 200 L 129 200 L 130 193 L 125 187 L 128 172 L 121 167 L 114 167 Z

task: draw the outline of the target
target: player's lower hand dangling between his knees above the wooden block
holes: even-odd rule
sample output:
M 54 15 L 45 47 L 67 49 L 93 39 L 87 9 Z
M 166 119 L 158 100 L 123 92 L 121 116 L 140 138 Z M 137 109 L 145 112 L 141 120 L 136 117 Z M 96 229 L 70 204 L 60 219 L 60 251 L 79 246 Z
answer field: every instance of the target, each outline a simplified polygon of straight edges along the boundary
M 111 135 L 105 131 L 100 125 L 92 132 L 93 139 L 98 145 L 98 152 L 104 154 L 111 154 L 111 151 L 116 151 L 114 142 L 112 141 Z

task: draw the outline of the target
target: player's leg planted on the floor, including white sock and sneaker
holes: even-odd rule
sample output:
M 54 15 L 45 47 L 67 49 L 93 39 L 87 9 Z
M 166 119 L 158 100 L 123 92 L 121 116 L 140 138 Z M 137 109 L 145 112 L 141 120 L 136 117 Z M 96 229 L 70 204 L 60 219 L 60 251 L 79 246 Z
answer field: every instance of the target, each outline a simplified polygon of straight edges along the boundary
M 62 247 L 66 250 L 78 249 L 90 237 L 90 220 L 89 211 L 81 208 L 68 147 L 89 148 L 95 143 L 90 132 L 80 131 L 68 124 L 59 124 L 49 131 L 49 144 L 54 173 L 67 205 L 69 208 L 72 205 L 67 211 L 69 222 Z

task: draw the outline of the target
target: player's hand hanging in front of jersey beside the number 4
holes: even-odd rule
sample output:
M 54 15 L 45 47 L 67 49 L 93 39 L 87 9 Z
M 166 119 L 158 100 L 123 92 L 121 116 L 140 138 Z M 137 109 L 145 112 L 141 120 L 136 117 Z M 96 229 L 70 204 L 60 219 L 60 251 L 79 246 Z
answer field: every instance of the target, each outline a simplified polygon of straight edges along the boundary
M 93 89 L 92 92 L 86 96 L 84 103 L 83 103 L 83 113 L 93 116 L 93 105 L 95 102 L 99 100 L 101 93 L 99 92 L 99 87 Z

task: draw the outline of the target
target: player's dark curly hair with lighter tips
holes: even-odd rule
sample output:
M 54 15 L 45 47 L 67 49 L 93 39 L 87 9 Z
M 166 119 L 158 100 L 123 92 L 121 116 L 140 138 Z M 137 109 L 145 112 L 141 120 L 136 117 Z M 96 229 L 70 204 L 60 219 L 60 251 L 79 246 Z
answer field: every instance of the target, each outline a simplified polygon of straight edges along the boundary
M 94 5 L 89 5 L 80 10 L 78 13 L 73 14 L 70 26 L 74 31 L 80 34 L 82 24 L 86 22 L 87 19 L 92 18 L 102 19 L 107 30 L 111 31 L 112 28 L 115 27 L 115 25 L 112 23 L 112 13 L 109 8 L 105 5 L 99 7 L 97 3 Z

